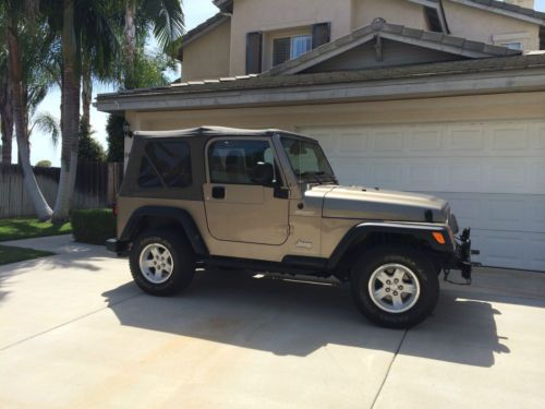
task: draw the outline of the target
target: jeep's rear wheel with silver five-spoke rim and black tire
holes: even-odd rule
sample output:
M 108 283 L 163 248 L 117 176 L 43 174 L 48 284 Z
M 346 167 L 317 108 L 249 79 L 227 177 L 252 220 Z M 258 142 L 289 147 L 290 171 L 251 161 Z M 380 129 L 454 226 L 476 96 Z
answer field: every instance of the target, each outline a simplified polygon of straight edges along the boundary
M 142 290 L 153 296 L 171 296 L 192 281 L 195 256 L 184 237 L 167 229 L 154 230 L 134 241 L 130 265 Z

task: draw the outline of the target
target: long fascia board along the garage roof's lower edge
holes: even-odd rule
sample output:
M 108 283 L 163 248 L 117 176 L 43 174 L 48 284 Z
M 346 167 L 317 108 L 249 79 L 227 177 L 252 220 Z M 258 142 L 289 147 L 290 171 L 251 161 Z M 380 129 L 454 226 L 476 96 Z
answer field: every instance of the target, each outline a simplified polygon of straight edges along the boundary
M 392 100 L 426 97 L 505 94 L 545 91 L 545 64 L 517 70 L 414 75 L 379 81 L 360 81 L 316 85 L 290 85 L 204 93 L 149 92 L 141 95 L 99 95 L 97 108 L 120 111 L 195 110 L 281 105 L 312 105 L 366 100 Z

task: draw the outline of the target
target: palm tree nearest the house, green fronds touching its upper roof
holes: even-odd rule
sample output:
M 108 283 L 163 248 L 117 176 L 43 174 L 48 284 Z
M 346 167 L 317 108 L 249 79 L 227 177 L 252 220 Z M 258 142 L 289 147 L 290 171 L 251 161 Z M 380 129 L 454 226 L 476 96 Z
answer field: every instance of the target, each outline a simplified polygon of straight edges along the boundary
M 138 11 L 138 14 L 136 13 Z M 169 55 L 184 34 L 184 15 L 181 0 L 125 0 L 124 12 L 124 86 L 133 88 L 137 51 L 136 27 L 153 28 L 154 36 Z

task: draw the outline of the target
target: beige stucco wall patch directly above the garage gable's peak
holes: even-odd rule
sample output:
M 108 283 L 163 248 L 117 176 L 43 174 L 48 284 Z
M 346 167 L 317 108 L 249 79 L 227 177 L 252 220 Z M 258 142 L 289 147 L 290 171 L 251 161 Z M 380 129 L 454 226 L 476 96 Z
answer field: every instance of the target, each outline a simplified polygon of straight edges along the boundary
M 427 29 L 422 5 L 405 0 L 353 0 L 352 29 L 383 17 L 391 24 Z

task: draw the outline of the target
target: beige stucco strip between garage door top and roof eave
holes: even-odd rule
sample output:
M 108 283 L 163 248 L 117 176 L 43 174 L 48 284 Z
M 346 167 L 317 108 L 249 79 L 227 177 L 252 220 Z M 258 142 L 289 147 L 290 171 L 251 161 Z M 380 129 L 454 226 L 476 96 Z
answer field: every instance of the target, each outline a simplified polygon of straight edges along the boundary
M 308 125 L 540 119 L 544 106 L 545 92 L 535 92 L 262 108 L 129 111 L 126 118 L 133 130 L 201 125 L 296 130 Z

